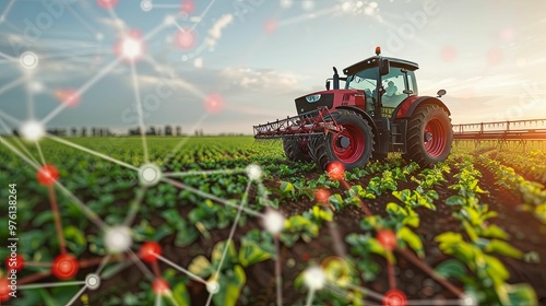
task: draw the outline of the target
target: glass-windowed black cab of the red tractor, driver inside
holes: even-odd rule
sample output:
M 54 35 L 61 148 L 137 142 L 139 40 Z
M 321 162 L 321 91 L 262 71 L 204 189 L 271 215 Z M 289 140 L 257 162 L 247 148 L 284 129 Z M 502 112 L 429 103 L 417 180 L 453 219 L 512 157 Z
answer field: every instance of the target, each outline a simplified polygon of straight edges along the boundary
M 365 59 L 343 72 L 346 90 L 360 90 L 366 95 L 366 111 L 373 117 L 390 118 L 402 102 L 416 96 L 415 62 L 377 56 Z

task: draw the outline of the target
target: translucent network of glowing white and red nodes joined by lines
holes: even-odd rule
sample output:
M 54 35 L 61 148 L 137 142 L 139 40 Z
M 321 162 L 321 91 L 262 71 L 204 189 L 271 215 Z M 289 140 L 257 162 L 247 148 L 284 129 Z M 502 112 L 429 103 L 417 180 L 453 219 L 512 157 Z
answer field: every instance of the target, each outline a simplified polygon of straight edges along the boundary
M 145 279 L 151 283 L 151 289 L 155 295 L 155 304 L 162 305 L 164 303 L 179 304 L 174 297 L 171 289 L 176 286 L 176 283 L 169 283 L 159 269 L 159 263 L 168 266 L 177 271 L 177 276 L 180 280 L 191 280 L 201 283 L 207 292 L 207 298 L 205 305 L 211 305 L 214 296 L 222 291 L 223 278 L 226 278 L 222 273 L 222 269 L 225 264 L 226 258 L 229 256 L 230 248 L 233 247 L 235 233 L 239 223 L 239 220 L 244 215 L 254 217 L 259 220 L 262 225 L 262 229 L 269 233 L 275 243 L 275 251 L 273 260 L 275 261 L 275 287 L 276 287 L 276 304 L 283 305 L 283 283 L 293 282 L 293 280 L 283 280 L 283 267 L 281 264 L 280 256 L 280 239 L 278 236 L 285 231 L 286 219 L 277 210 L 268 209 L 263 212 L 254 211 L 248 207 L 249 198 L 251 193 L 252 186 L 257 186 L 257 189 L 265 189 L 262 184 L 262 170 L 259 165 L 250 164 L 246 168 L 232 168 L 232 169 L 219 169 L 219 170 L 188 170 L 188 172 L 169 172 L 166 167 L 154 163 L 150 157 L 149 141 L 146 139 L 147 126 L 145 122 L 145 116 L 143 111 L 143 101 L 142 93 L 139 82 L 139 64 L 141 62 L 147 63 L 149 66 L 155 68 L 157 72 L 168 71 L 168 67 L 164 63 L 157 62 L 153 56 L 149 54 L 151 46 L 154 44 L 154 39 L 165 30 L 171 28 L 170 42 L 174 42 L 178 47 L 178 57 L 180 62 L 190 62 L 194 66 L 202 64 L 202 57 L 205 51 L 211 51 L 216 45 L 218 35 L 214 35 L 216 32 L 209 32 L 205 35 L 198 33 L 197 28 L 202 21 L 207 17 L 211 8 L 216 1 L 209 1 L 206 5 L 198 5 L 197 2 L 191 0 L 178 1 L 173 4 L 171 2 L 162 3 L 162 1 L 141 1 L 134 4 L 140 5 L 143 12 L 161 11 L 171 12 L 173 9 L 177 11 L 176 14 L 166 14 L 164 20 L 153 27 L 151 31 L 143 33 L 136 26 L 127 25 L 120 16 L 118 16 L 117 5 L 119 4 L 117 0 L 97 0 L 95 2 L 88 1 L 63 1 L 58 2 L 58 7 L 55 7 L 54 12 L 60 12 L 61 8 L 64 13 L 71 14 L 76 21 L 81 23 L 81 26 L 87 28 L 90 33 L 95 37 L 95 42 L 91 45 L 79 45 L 74 44 L 72 40 L 66 42 L 48 42 L 49 45 L 62 45 L 66 44 L 70 46 L 71 51 L 62 49 L 50 49 L 44 50 L 33 50 L 32 48 L 23 50 L 19 56 L 8 55 L 5 52 L 0 52 L 2 58 L 1 66 L 11 66 L 14 69 L 19 69 L 21 72 L 20 78 L 4 84 L 0 87 L 0 97 L 12 89 L 24 87 L 27 94 L 26 101 L 26 118 L 17 118 L 10 114 L 9 109 L 0 109 L 0 129 L 3 133 L 11 133 L 13 127 L 19 131 L 22 139 L 19 138 L 4 138 L 0 137 L 0 143 L 7 148 L 12 154 L 19 156 L 28 166 L 31 166 L 36 173 L 36 180 L 40 188 L 47 190 L 47 202 L 50 207 L 52 213 L 52 219 L 55 222 L 55 231 L 57 243 L 59 249 L 56 251 L 56 256 L 51 261 L 26 261 L 20 254 L 11 254 L 7 258 L 8 267 L 15 269 L 17 272 L 24 271 L 25 267 L 41 267 L 41 272 L 31 274 L 24 279 L 19 279 L 16 282 L 16 289 L 13 287 L 13 282 L 10 280 L 10 273 L 8 270 L 3 272 L 3 276 L 0 279 L 0 301 L 1 303 L 13 303 L 17 305 L 16 296 L 24 296 L 25 292 L 37 290 L 37 289 L 51 289 L 51 287 L 78 287 L 79 291 L 70 297 L 67 305 L 73 304 L 86 304 L 88 303 L 88 295 L 92 295 L 94 291 L 102 287 L 102 284 L 111 279 L 116 273 L 121 273 L 128 266 L 135 266 Z M 90 21 L 82 16 L 74 9 L 76 5 L 97 5 L 99 7 L 105 17 L 111 21 L 111 24 L 117 28 L 114 44 L 111 46 L 106 46 L 106 34 L 97 32 L 90 24 Z M 359 1 L 355 3 L 346 3 L 343 5 L 343 10 L 347 10 L 349 5 L 358 5 Z M 375 3 L 375 2 L 373 2 Z M 281 1 L 282 7 L 293 5 L 292 1 Z M 10 0 L 8 4 L 3 8 L 3 12 L 0 15 L 0 24 L 4 24 L 10 27 L 14 33 L 22 33 L 23 30 L 19 28 L 16 25 L 10 22 L 10 11 L 15 5 L 24 5 L 24 1 Z M 302 2 L 302 16 L 307 13 L 305 11 L 312 10 L 312 1 Z M 198 12 L 198 9 L 200 11 Z M 339 8 L 337 8 L 339 9 Z M 333 9 L 333 10 L 337 10 Z M 377 9 L 376 4 L 367 4 L 367 13 L 372 13 Z M 322 13 L 331 13 L 332 10 L 324 11 Z M 51 19 L 55 17 L 51 14 Z M 293 21 L 287 21 L 289 24 L 294 21 L 301 22 L 301 19 L 296 19 Z M 283 26 L 282 21 L 274 23 L 266 23 L 265 31 L 273 31 Z M 214 26 L 214 25 L 213 25 Z M 222 27 L 222 26 L 221 26 Z M 213 34 L 210 34 L 213 33 Z M 44 40 L 47 40 L 44 38 Z M 59 44 L 60 43 L 60 44 Z M 76 45 L 82 48 L 80 51 L 74 51 L 73 46 Z M 49 51 L 49 52 L 48 52 Z M 40 66 L 47 64 L 47 62 L 55 57 L 69 58 L 71 60 L 80 61 L 84 64 L 90 64 L 96 69 L 96 73 L 92 75 L 86 82 L 76 87 L 62 87 L 62 89 L 49 89 L 43 82 L 36 78 Z M 104 62 L 105 58 L 111 58 L 111 60 Z M 142 143 L 142 163 L 139 165 L 133 165 L 126 163 L 123 161 L 117 160 L 112 156 L 108 156 L 104 153 L 94 151 L 92 149 L 82 146 L 75 142 L 70 141 L 61 137 L 57 137 L 51 132 L 48 132 L 47 127 L 50 125 L 51 120 L 56 118 L 59 114 L 70 110 L 70 108 L 79 107 L 81 104 L 86 103 L 86 95 L 93 91 L 99 91 L 99 81 L 108 75 L 109 73 L 115 73 L 118 70 L 129 71 L 127 75 L 128 81 L 132 85 L 132 94 L 134 99 L 134 108 L 138 114 L 138 125 L 141 134 Z M 173 74 L 173 71 L 169 71 Z M 223 97 L 216 93 L 202 93 L 192 84 L 183 81 L 183 76 L 176 75 L 176 79 L 180 83 L 185 84 L 185 89 L 202 101 L 202 105 L 195 107 L 204 108 L 202 117 L 198 120 L 194 128 L 210 115 L 218 113 L 223 109 L 224 101 Z M 97 89 L 98 87 L 98 89 Z M 35 111 L 35 97 L 38 95 L 48 95 L 55 97 L 60 103 L 57 107 L 51 109 L 48 114 L 43 117 L 37 117 Z M 67 181 L 75 179 L 70 176 L 70 174 L 61 175 L 66 173 L 62 164 L 51 164 L 48 162 L 47 154 L 43 153 L 41 141 L 49 140 L 67 148 L 79 150 L 91 154 L 99 160 L 104 160 L 108 163 L 121 166 L 134 173 L 138 178 L 138 186 L 132 190 L 133 199 L 130 201 L 130 207 L 128 209 L 127 215 L 122 222 L 119 223 L 108 223 L 105 220 L 108 219 L 107 215 L 100 215 L 100 213 L 90 209 L 86 201 L 79 198 L 78 192 L 71 190 L 67 187 Z M 31 152 L 27 149 L 27 144 L 31 143 L 35 145 L 37 154 Z M 164 156 L 165 160 L 171 158 L 180 150 L 183 149 L 186 140 L 180 141 L 178 145 L 173 148 L 173 151 Z M 332 178 L 343 181 L 345 185 L 347 183 L 341 177 L 341 173 L 344 173 L 343 168 L 333 165 L 330 170 Z M 245 192 L 241 193 L 241 198 L 237 200 L 229 200 L 218 198 L 212 193 L 204 192 L 199 188 L 186 185 L 182 181 L 183 177 L 188 176 L 199 176 L 206 177 L 209 175 L 242 175 L 246 176 L 247 186 Z M 217 249 L 218 263 L 212 271 L 207 279 L 204 279 L 195 273 L 192 273 L 189 268 L 179 266 L 177 262 L 170 260 L 164 256 L 164 248 L 166 246 L 159 245 L 158 242 L 147 240 L 147 242 L 135 242 L 135 229 L 134 222 L 138 216 L 139 211 L 142 209 L 144 203 L 144 196 L 154 188 L 158 188 L 162 185 L 169 185 L 180 190 L 187 190 L 194 193 L 202 200 L 210 200 L 214 205 L 224 205 L 226 208 L 232 208 L 236 210 L 236 215 L 233 224 L 229 227 L 229 235 L 226 237 L 224 244 L 222 244 Z M 13 186 L 15 187 L 15 186 Z M 347 190 L 351 186 L 346 186 Z M 3 186 L 2 186 L 3 188 Z M 14 188 L 13 188 L 14 189 Z M 85 257 L 81 258 L 72 255 L 67 247 L 67 239 L 64 237 L 64 227 L 67 223 L 76 222 L 73 220 L 62 220 L 61 208 L 59 205 L 58 197 L 64 197 L 70 199 L 71 205 L 78 209 L 83 216 L 85 216 L 95 227 L 96 232 L 100 235 L 100 244 L 104 245 L 106 250 L 105 256 L 100 257 Z M 265 193 L 259 195 L 259 197 L 266 197 Z M 263 200 L 263 199 L 262 199 Z M 318 200 L 328 204 L 328 197 L 320 192 Z M 332 232 L 335 232 L 335 225 L 332 222 Z M 379 238 L 379 240 L 384 242 L 384 247 L 392 251 L 395 249 L 393 244 L 392 233 L 377 231 L 378 236 L 384 236 Z M 335 236 L 335 234 L 333 234 Z M 339 244 L 337 242 L 336 244 Z M 343 262 L 345 255 L 343 254 L 342 247 L 334 246 L 340 260 Z M 206 255 L 204 255 L 206 256 Z M 15 266 L 11 266 L 10 262 L 15 262 Z M 114 264 L 115 269 L 109 269 L 108 273 L 105 273 L 105 267 L 108 264 Z M 81 271 L 92 272 L 82 274 Z M 389 268 L 389 269 L 392 269 Z M 427 268 L 424 268 L 425 270 Z M 112 272 L 114 271 L 114 272 Z M 430 271 L 430 268 L 428 268 Z M 391 289 L 388 293 L 381 294 L 373 292 L 364 286 L 355 284 L 344 284 L 340 285 L 339 280 L 327 273 L 322 267 L 310 264 L 309 268 L 302 271 L 304 283 L 306 285 L 307 305 L 314 305 L 316 293 L 322 290 L 342 291 L 348 294 L 348 291 L 357 291 L 366 296 L 363 302 L 369 302 L 369 299 L 375 301 L 372 303 L 382 303 L 383 305 L 404 305 L 404 304 L 415 304 L 419 303 L 434 303 L 434 301 L 407 301 L 404 293 L 396 291 L 395 280 L 393 280 L 393 274 L 390 275 Z M 52 282 L 45 282 L 44 280 L 57 280 Z M 441 281 L 441 280 L 440 280 Z M 459 298 L 453 301 L 442 301 L 442 303 L 451 305 L 474 305 L 474 298 L 465 295 L 461 291 L 450 287 L 448 283 L 444 283 Z

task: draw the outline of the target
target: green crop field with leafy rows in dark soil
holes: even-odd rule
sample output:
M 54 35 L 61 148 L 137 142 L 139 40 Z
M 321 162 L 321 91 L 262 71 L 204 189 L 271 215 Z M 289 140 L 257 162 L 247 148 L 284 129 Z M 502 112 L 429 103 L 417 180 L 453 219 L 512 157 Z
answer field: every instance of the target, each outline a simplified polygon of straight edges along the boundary
M 546 305 L 542 143 L 330 173 L 251 137 L 142 145 L 0 139 L 1 305 Z

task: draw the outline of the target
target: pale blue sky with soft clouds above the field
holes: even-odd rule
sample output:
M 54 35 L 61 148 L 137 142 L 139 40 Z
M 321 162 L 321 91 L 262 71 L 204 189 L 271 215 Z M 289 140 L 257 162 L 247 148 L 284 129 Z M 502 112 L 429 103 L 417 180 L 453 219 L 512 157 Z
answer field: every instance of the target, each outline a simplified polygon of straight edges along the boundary
M 546 118 L 545 1 L 1 0 L 0 133 L 174 125 L 252 133 L 382 55 L 453 123 Z

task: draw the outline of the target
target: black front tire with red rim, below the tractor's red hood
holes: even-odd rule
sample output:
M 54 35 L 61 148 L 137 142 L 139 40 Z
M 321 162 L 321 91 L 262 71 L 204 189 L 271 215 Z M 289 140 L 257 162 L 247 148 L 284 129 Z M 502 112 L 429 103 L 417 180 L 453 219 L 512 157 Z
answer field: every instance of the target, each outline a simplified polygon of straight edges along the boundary
M 341 132 L 311 139 L 309 153 L 319 168 L 327 169 L 332 162 L 340 162 L 345 169 L 364 167 L 373 152 L 373 131 L 368 122 L 351 110 L 332 111 Z M 329 121 L 329 117 L 325 118 Z

